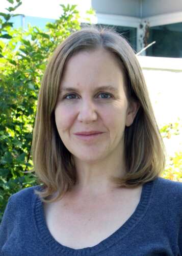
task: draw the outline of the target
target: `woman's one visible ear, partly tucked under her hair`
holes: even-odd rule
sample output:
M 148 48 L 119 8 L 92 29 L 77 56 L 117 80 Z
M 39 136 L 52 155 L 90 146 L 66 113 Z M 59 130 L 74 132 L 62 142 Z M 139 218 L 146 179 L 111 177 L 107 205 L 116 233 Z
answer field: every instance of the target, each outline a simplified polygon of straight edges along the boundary
M 132 125 L 139 108 L 140 108 L 140 104 L 137 101 L 131 100 L 128 103 L 128 108 L 126 112 L 126 123 L 125 123 L 126 126 Z

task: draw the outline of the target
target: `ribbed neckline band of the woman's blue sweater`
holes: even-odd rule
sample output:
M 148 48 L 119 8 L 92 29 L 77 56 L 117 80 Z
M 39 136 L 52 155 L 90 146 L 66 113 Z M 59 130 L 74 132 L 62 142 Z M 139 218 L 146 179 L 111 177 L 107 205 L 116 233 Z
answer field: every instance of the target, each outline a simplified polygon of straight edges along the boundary
M 100 243 L 92 247 L 86 247 L 82 249 L 73 249 L 67 246 L 60 244 L 58 241 L 54 239 L 51 235 L 45 220 L 43 202 L 36 195 L 34 201 L 34 217 L 35 217 L 35 225 L 39 232 L 39 237 L 42 241 L 48 246 L 51 251 L 58 253 L 59 255 L 74 255 L 74 256 L 83 256 L 83 255 L 95 255 L 99 252 L 108 249 L 119 240 L 124 239 L 125 236 L 140 222 L 142 217 L 144 216 L 153 191 L 153 185 L 155 180 L 145 183 L 142 186 L 142 192 L 140 201 L 134 211 L 134 213 L 127 219 L 127 221 L 119 227 L 113 234 L 111 234 L 108 238 L 104 239 Z

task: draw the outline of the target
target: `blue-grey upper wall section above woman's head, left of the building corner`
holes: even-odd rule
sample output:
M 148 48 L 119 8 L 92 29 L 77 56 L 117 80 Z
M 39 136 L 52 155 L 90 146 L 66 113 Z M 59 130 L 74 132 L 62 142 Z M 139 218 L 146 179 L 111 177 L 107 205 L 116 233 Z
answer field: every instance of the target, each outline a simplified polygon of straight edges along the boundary
M 140 17 L 140 0 L 92 0 L 96 13 Z

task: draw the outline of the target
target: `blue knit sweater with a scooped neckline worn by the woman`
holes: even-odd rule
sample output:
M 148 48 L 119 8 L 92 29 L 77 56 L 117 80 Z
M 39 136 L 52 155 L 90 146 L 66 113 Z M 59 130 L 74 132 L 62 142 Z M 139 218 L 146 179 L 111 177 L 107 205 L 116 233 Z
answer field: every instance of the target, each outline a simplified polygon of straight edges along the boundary
M 63 246 L 51 236 L 34 188 L 40 186 L 22 189 L 9 198 L 0 226 L 0 255 L 182 255 L 180 182 L 157 178 L 144 184 L 134 214 L 111 236 L 83 249 Z

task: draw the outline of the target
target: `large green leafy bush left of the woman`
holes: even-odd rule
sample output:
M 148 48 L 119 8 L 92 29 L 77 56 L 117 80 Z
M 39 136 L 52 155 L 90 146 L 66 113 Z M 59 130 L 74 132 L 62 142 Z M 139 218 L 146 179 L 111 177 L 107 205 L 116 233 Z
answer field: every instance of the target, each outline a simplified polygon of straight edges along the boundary
M 15 1 L 8 0 L 12 5 Z M 80 29 L 76 6 L 64 6 L 63 14 L 45 30 L 29 25 L 14 29 L 10 18 L 20 4 L 0 13 L 0 221 L 10 195 L 36 185 L 30 156 L 37 95 L 47 59 L 71 32 Z M 25 173 L 24 173 L 25 172 Z

